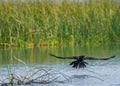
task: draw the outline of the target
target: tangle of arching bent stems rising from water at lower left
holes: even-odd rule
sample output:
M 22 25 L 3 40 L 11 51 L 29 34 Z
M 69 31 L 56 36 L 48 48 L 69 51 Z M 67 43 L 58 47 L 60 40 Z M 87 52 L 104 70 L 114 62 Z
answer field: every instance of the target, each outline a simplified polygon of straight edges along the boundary
M 9 76 L 4 76 L 5 79 L 0 79 L 0 86 L 14 86 L 26 84 L 49 84 L 52 82 L 70 82 L 71 78 L 61 72 L 45 67 L 29 67 L 22 60 L 14 57 L 15 61 L 22 63 L 25 70 L 20 70 L 22 73 L 15 72 L 15 66 L 12 67 Z M 13 64 L 14 65 L 14 64 Z M 18 67 L 17 67 L 18 70 Z M 9 72 L 9 70 L 7 69 Z M 61 78 L 61 79 L 59 79 Z

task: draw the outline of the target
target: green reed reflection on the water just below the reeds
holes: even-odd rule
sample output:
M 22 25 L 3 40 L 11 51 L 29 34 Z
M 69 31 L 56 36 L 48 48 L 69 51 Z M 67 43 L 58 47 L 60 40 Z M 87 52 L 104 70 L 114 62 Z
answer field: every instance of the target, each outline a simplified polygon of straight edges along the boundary
M 0 49 L 0 66 L 6 64 L 21 64 L 14 57 L 21 59 L 26 64 L 54 64 L 69 62 L 49 56 L 49 53 L 59 56 L 86 55 L 93 57 L 120 57 L 120 44 L 101 46 L 67 46 L 67 47 L 42 47 L 42 48 L 9 48 Z

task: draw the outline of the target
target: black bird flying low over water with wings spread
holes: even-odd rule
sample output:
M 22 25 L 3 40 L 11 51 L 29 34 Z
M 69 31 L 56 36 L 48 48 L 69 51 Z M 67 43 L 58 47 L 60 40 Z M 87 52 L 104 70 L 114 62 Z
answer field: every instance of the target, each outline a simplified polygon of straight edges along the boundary
M 108 58 L 94 58 L 94 57 L 87 57 L 87 56 L 68 56 L 68 57 L 62 57 L 62 56 L 56 56 L 53 54 L 49 54 L 50 56 L 59 58 L 59 59 L 75 59 L 75 61 L 72 61 L 70 65 L 72 65 L 73 68 L 85 68 L 88 64 L 85 62 L 85 60 L 109 60 L 111 58 L 114 58 L 115 56 L 111 56 Z

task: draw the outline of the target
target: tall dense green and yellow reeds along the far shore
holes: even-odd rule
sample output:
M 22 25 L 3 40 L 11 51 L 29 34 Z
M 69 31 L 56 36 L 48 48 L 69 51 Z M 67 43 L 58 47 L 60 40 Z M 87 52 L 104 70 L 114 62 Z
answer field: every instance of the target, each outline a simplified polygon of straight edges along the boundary
M 120 42 L 120 3 L 110 0 L 0 2 L 0 46 L 41 47 Z

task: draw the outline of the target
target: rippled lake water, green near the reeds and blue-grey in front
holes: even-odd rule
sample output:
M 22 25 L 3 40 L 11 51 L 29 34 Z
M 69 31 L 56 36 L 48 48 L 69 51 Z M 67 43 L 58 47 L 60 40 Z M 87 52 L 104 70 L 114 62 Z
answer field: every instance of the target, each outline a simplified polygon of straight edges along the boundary
M 69 66 L 72 60 L 60 60 L 49 56 L 49 53 L 58 56 L 86 55 L 98 58 L 116 55 L 116 58 L 107 61 L 87 61 L 89 64 L 86 68 L 74 69 Z M 8 82 L 9 80 L 6 77 L 10 73 L 15 74 L 19 78 L 20 76 L 31 74 L 30 78 L 32 79 L 37 77 L 39 73 L 49 74 L 50 83 L 34 83 L 31 86 L 120 86 L 120 44 L 74 47 L 1 48 L 0 83 Z M 44 79 L 48 81 L 46 76 Z M 42 77 L 41 80 L 44 79 Z

